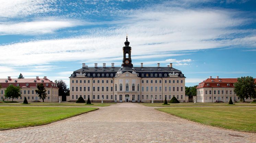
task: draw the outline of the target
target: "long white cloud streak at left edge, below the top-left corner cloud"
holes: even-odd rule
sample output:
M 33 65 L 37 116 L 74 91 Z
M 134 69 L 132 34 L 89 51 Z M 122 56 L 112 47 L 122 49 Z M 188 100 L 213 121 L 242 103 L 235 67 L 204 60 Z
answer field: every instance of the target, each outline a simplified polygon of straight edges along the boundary
M 74 19 L 52 19 L 20 23 L 0 23 L 0 35 L 25 34 L 37 35 L 54 33 L 56 30 L 83 25 L 83 22 Z

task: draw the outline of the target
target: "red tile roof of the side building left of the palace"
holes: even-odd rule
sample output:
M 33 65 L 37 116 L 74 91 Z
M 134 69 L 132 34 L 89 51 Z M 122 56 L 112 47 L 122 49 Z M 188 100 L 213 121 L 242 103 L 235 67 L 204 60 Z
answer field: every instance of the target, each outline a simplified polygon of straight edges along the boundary
M 47 78 L 23 78 L 23 79 L 19 79 L 19 78 L 10 78 L 8 80 L 8 78 L 0 78 L 0 84 L 2 85 L 2 87 L 8 87 L 9 84 L 12 84 L 14 86 L 17 86 L 17 84 L 19 84 L 20 87 L 22 88 L 26 88 L 26 87 L 36 87 L 36 84 L 43 84 L 45 87 L 49 87 L 49 88 L 58 88 L 57 85 L 50 81 Z M 46 84 L 48 83 L 48 86 L 46 86 Z M 28 86 L 27 86 L 28 84 Z

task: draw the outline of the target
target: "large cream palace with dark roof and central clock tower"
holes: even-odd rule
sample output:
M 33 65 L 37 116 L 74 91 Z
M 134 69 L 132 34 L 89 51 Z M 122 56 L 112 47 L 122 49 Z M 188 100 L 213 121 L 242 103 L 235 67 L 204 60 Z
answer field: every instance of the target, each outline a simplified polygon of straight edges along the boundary
M 92 102 L 163 102 L 165 97 L 171 100 L 175 96 L 185 102 L 185 76 L 182 71 L 167 67 L 133 67 L 131 47 L 126 37 L 123 47 L 121 67 L 85 66 L 74 71 L 70 78 L 70 96 L 67 101 L 76 101 L 79 97 Z

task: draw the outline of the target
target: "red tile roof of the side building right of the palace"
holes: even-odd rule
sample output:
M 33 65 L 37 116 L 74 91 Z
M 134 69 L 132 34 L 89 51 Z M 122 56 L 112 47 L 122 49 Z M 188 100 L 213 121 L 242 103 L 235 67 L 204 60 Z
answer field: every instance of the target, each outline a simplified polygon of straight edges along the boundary
M 256 78 L 254 78 L 256 83 Z M 207 78 L 198 84 L 197 88 L 203 87 L 234 87 L 234 83 L 237 82 L 237 78 Z M 219 86 L 218 86 L 219 84 Z

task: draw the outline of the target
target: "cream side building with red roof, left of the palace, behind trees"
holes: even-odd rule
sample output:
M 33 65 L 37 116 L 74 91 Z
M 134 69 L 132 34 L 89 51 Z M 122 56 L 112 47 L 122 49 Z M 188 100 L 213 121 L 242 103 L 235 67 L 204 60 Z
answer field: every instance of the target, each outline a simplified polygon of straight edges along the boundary
M 8 76 L 8 78 L 0 78 L 0 84 L 2 85 L 2 88 L 0 89 L 0 100 L 5 101 L 11 101 L 11 98 L 6 98 L 4 96 L 5 89 L 9 85 L 14 86 L 20 86 L 21 87 L 21 97 L 13 99 L 13 101 L 23 102 L 24 97 L 27 98 L 28 102 L 33 102 L 35 100 L 37 101 L 43 101 L 41 98 L 38 97 L 38 94 L 35 92 L 37 89 L 38 84 L 43 84 L 46 89 L 46 99 L 45 102 L 58 102 L 59 96 L 58 96 L 58 90 L 59 88 L 57 85 L 53 82 L 47 79 L 46 76 L 44 78 L 39 78 L 36 76 L 36 78 L 11 78 Z

